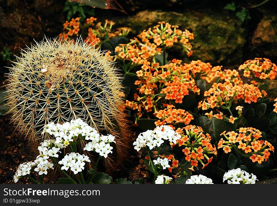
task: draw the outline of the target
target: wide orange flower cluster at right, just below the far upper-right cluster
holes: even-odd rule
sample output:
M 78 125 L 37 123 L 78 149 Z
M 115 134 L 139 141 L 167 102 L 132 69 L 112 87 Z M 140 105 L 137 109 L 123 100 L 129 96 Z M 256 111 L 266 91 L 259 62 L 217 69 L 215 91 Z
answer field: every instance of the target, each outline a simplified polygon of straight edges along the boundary
M 229 105 L 235 101 L 242 100 L 245 103 L 257 102 L 258 98 L 262 98 L 267 93 L 253 84 L 243 84 L 242 81 L 237 78 L 234 81 L 234 85 L 231 82 L 214 83 L 212 87 L 204 92 L 204 96 L 207 97 L 203 101 L 198 103 L 198 108 L 202 110 L 220 108 Z

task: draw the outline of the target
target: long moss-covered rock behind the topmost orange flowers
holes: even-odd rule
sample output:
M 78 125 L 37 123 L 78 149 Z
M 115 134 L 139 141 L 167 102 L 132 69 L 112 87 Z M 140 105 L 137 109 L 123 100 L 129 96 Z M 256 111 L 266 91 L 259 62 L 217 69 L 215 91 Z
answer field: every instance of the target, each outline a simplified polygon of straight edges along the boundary
M 178 25 L 182 30 L 188 29 L 193 32 L 195 35 L 195 39 L 191 41 L 193 55 L 187 58 L 186 54 L 181 52 L 181 47 L 176 46 L 171 49 L 175 50 L 175 53 L 170 52 L 170 58 L 174 56 L 186 62 L 200 59 L 213 65 L 242 62 L 246 32 L 241 28 L 242 23 L 235 17 L 229 18 L 207 10 L 202 13 L 188 11 L 182 14 L 172 11 L 144 10 L 134 16 L 111 17 L 111 20 L 116 22 L 117 27 L 131 27 L 133 35 L 157 25 L 158 21 L 166 21 L 171 25 Z

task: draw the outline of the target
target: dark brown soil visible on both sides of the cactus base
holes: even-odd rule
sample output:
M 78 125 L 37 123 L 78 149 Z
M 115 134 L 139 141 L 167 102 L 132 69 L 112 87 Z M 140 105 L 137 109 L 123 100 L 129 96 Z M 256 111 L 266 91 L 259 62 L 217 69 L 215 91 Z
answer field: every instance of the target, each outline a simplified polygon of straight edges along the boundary
M 20 137 L 18 131 L 14 131 L 13 125 L 8 119 L 9 115 L 0 116 L 0 184 L 14 184 L 13 175 L 19 164 L 33 161 L 37 157 L 37 150 L 32 149 L 27 140 Z M 149 181 L 149 172 L 144 166 L 144 154 L 132 151 L 130 159 L 126 161 L 125 169 L 116 172 L 113 180 L 117 178 L 126 178 L 132 183 L 138 179 Z M 59 174 L 47 175 L 43 183 L 57 183 Z M 27 178 L 20 179 L 18 183 L 32 183 Z

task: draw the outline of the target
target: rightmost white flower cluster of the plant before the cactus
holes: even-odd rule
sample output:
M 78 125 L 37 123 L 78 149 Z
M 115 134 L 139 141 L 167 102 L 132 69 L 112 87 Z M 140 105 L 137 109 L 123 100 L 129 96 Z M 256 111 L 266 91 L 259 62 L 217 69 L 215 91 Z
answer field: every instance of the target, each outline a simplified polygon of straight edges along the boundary
M 97 133 L 98 134 L 98 133 Z M 108 157 L 109 153 L 112 153 L 112 148 L 110 146 L 111 142 L 115 142 L 115 137 L 112 135 L 91 135 L 86 136 L 86 140 L 91 140 L 92 142 L 88 142 L 84 147 L 84 150 L 95 151 L 99 153 L 100 156 Z

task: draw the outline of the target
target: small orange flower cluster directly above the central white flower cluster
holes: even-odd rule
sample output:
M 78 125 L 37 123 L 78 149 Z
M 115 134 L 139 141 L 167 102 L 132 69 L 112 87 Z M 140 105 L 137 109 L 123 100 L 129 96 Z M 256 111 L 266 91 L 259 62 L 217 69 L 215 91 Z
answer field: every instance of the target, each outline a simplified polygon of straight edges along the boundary
M 155 125 L 174 125 L 176 123 L 184 123 L 185 125 L 188 125 L 190 121 L 194 119 L 189 112 L 186 112 L 184 109 L 174 109 L 174 107 L 174 105 L 170 104 L 167 105 L 167 109 L 157 111 L 155 116 L 159 118 L 159 120 L 155 122 Z

